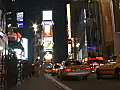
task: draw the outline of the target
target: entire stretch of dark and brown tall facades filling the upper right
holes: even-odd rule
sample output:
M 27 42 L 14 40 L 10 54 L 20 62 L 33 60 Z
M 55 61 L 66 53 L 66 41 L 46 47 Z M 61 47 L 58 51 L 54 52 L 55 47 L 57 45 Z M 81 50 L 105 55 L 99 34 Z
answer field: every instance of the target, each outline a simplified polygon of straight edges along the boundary
M 74 58 L 117 55 L 120 1 L 73 0 L 70 8 Z

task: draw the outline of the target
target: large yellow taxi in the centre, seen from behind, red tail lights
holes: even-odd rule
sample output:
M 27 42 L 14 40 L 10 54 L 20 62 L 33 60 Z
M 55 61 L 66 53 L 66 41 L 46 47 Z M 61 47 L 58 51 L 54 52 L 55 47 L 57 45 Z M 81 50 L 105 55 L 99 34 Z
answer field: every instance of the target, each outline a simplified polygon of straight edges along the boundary
M 62 66 L 57 75 L 60 79 L 67 78 L 68 76 L 80 76 L 82 79 L 87 79 L 92 73 L 89 65 L 83 65 L 77 60 L 66 60 L 61 64 Z

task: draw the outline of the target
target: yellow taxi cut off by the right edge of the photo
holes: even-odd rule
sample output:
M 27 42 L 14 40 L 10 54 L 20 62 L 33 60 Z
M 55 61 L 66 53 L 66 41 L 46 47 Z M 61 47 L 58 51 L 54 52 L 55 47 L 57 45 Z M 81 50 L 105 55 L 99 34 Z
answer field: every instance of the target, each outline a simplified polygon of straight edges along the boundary
M 117 57 L 113 56 L 112 59 L 107 60 L 104 65 L 97 67 L 96 78 L 102 79 L 104 76 L 112 76 L 116 79 L 120 78 L 120 63 L 117 61 Z

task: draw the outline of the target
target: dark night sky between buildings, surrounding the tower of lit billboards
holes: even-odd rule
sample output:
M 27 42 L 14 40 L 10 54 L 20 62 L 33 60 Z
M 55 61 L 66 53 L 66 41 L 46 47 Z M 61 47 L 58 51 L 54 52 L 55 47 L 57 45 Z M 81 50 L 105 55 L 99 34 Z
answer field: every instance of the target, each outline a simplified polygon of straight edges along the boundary
M 29 39 L 29 58 L 33 59 L 34 33 L 31 29 L 32 23 L 42 22 L 42 10 L 53 10 L 55 60 L 60 62 L 67 57 L 66 36 L 66 8 L 65 0 L 16 0 L 17 11 L 24 11 L 24 25 L 22 30 L 24 37 Z

